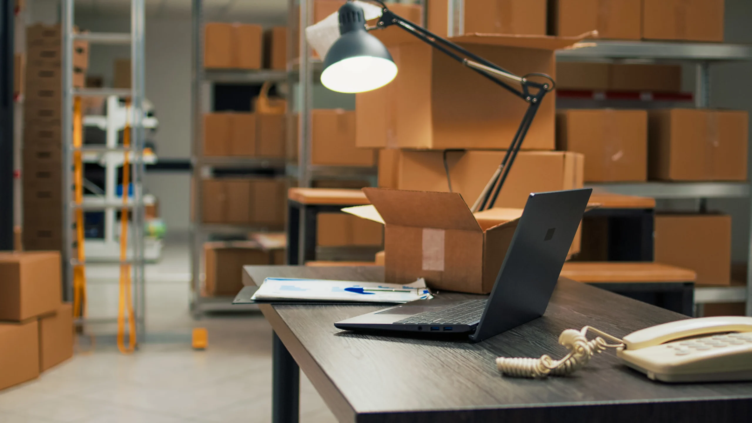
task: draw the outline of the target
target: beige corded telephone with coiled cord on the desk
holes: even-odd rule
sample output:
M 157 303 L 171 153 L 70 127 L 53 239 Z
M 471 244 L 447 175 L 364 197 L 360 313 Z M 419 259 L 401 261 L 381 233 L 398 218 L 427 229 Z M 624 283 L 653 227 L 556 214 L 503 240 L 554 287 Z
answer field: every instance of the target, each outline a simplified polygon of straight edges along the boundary
M 605 336 L 587 340 L 591 330 Z M 691 318 L 638 330 L 623 339 L 584 327 L 565 330 L 559 343 L 570 350 L 553 361 L 541 358 L 496 359 L 508 376 L 564 376 L 587 364 L 606 348 L 617 348 L 617 357 L 647 377 L 663 382 L 710 382 L 752 380 L 752 317 Z

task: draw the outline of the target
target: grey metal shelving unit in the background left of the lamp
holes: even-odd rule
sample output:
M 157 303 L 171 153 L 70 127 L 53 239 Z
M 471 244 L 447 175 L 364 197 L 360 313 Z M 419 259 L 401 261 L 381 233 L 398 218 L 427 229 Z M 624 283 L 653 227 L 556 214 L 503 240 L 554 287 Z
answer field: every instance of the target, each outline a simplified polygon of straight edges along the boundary
M 312 2 L 306 0 L 288 0 L 288 25 L 290 34 L 295 34 L 296 25 L 300 23 L 305 28 L 313 23 Z M 359 166 L 318 166 L 311 165 L 311 110 L 313 109 L 313 86 L 316 63 L 319 59 L 311 59 L 311 47 L 305 37 L 299 37 L 302 56 L 308 60 L 299 61 L 288 57 L 287 70 L 257 69 L 205 69 L 203 68 L 203 0 L 193 0 L 193 218 L 191 239 L 191 260 L 193 273 L 193 310 L 194 315 L 199 316 L 207 311 L 238 310 L 237 306 L 228 305 L 231 302 L 226 297 L 202 297 L 202 243 L 209 234 L 233 234 L 248 233 L 258 230 L 284 230 L 281 227 L 257 227 L 252 225 L 233 224 L 202 224 L 200 201 L 202 196 L 202 178 L 211 175 L 213 169 L 246 169 L 265 170 L 278 172 L 280 177 L 297 181 L 299 187 L 310 187 L 312 181 L 317 179 L 340 179 L 340 180 L 367 180 L 372 185 L 376 184 L 377 169 L 375 167 Z M 294 12 L 300 8 L 298 15 Z M 301 33 L 302 34 L 302 33 Z M 292 54 L 296 47 L 296 40 L 290 36 L 287 38 L 287 51 Z M 244 157 L 203 157 L 202 156 L 202 114 L 210 110 L 211 86 L 215 83 L 224 84 L 262 84 L 265 81 L 287 83 L 288 105 L 299 105 L 298 132 L 293 133 L 292 115 L 289 114 L 287 146 L 299 148 L 299 158 L 296 163 L 287 159 L 264 159 Z M 298 86 L 297 90 L 293 87 Z M 301 140 L 300 142 L 298 140 Z M 302 169 L 302 172 L 301 172 Z M 329 250 L 326 251 L 329 253 Z M 335 251 L 336 252 L 336 251 Z M 332 253 L 335 254 L 335 253 Z M 255 308 L 252 308 L 255 309 Z

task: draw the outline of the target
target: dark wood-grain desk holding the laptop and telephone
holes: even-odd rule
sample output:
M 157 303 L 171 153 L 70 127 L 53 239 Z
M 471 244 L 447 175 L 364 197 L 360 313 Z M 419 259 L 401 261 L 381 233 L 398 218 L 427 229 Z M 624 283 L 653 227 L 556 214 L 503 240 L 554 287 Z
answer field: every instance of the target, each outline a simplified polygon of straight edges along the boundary
M 245 266 L 243 273 L 245 285 L 260 284 L 267 276 L 361 281 L 381 281 L 384 276 L 381 266 Z M 570 377 L 499 375 L 494 363 L 499 355 L 564 355 L 556 339 L 567 328 L 591 324 L 624 336 L 685 317 L 599 288 L 561 278 L 544 317 L 478 344 L 353 333 L 332 324 L 380 308 L 260 306 L 275 332 L 275 422 L 298 419 L 297 365 L 339 421 L 752 421 L 752 382 L 651 382 L 618 364 L 612 351 Z

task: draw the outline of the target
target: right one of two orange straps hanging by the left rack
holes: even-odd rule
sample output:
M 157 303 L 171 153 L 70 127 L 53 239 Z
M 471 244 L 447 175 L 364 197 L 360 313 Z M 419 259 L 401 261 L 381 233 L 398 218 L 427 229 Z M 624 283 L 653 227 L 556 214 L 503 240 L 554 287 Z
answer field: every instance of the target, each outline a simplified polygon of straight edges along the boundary
M 126 99 L 126 116 L 130 106 L 130 99 Z M 123 149 L 131 145 L 131 127 L 126 117 L 123 129 Z M 131 265 L 126 263 L 128 258 L 128 198 L 130 185 L 129 151 L 123 152 L 123 209 L 120 212 L 120 300 L 117 310 L 117 349 L 123 354 L 130 354 L 136 348 L 136 322 L 133 315 Z M 134 254 L 135 257 L 135 254 Z M 126 346 L 125 320 L 128 319 L 128 346 Z

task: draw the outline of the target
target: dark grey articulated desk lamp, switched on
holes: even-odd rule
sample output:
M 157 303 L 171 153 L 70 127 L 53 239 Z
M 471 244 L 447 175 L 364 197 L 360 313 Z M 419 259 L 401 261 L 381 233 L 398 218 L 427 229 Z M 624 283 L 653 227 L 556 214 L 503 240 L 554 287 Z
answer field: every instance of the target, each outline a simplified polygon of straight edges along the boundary
M 538 111 L 538 106 L 541 105 L 546 93 L 553 90 L 555 86 L 553 79 L 539 73 L 521 77 L 514 75 L 459 45 L 393 14 L 383 2 L 368 1 L 381 6 L 381 17 L 374 27 L 365 26 L 362 8 L 353 4 L 352 1 L 348 1 L 339 8 L 340 36 L 329 48 L 324 58 L 321 73 L 321 84 L 324 87 L 339 93 L 363 93 L 389 84 L 397 76 L 397 65 L 394 64 L 387 47 L 378 38 L 368 34 L 368 31 L 396 25 L 528 103 L 527 111 L 501 165 L 486 184 L 481 196 L 475 201 L 472 212 L 492 208 L 509 174 L 509 169 L 517 157 L 517 152 L 520 151 L 535 112 Z M 530 77 L 541 77 L 548 81 L 538 83 L 530 81 Z

